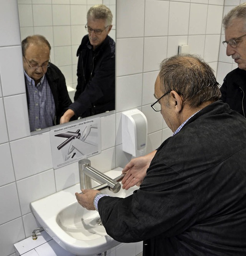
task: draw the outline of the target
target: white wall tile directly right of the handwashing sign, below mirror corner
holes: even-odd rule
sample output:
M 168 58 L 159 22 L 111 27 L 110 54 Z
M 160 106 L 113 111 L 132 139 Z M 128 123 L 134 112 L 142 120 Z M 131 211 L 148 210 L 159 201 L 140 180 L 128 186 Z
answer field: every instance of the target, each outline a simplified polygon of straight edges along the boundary
M 101 117 L 101 150 L 115 146 L 115 114 Z

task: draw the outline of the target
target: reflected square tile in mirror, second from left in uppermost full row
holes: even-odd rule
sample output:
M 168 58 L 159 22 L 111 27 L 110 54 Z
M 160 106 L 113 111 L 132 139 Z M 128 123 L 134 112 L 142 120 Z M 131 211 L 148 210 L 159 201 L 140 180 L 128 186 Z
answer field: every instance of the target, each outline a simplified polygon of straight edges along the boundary
M 34 26 L 52 26 L 52 5 L 51 4 L 33 4 L 33 25 Z

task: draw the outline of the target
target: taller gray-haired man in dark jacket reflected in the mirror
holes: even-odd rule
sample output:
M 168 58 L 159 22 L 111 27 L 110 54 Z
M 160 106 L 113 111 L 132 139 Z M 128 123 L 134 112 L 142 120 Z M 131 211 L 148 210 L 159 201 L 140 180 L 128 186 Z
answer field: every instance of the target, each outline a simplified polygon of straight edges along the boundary
M 87 12 L 85 35 L 78 48 L 78 84 L 74 102 L 60 122 L 74 115 L 88 117 L 115 109 L 115 42 L 108 36 L 113 15 L 105 5 L 94 5 Z

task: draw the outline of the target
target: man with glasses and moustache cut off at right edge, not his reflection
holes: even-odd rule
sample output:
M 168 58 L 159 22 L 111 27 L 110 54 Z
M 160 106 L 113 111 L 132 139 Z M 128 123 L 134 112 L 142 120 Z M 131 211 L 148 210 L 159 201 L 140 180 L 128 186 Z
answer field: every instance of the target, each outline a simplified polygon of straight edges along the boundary
M 221 86 L 221 99 L 246 117 L 246 3 L 234 7 L 223 18 L 226 55 L 238 68 L 229 72 Z

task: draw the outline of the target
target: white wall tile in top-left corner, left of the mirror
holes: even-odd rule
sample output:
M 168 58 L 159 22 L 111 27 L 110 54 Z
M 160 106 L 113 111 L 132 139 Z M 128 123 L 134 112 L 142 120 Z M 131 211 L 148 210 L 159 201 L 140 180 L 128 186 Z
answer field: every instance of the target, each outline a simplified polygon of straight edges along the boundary
M 0 47 L 20 45 L 20 26 L 17 1 L 1 1 L 0 31 Z M 10 58 L 10 60 L 12 59 Z

